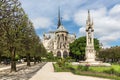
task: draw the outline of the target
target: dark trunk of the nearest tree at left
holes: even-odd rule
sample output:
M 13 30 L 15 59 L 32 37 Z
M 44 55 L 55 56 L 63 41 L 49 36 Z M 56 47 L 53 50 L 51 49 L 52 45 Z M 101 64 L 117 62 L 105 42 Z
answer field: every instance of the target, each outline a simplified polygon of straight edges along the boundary
M 16 61 L 15 61 L 15 51 L 16 49 L 14 47 L 11 47 L 11 72 L 16 72 Z

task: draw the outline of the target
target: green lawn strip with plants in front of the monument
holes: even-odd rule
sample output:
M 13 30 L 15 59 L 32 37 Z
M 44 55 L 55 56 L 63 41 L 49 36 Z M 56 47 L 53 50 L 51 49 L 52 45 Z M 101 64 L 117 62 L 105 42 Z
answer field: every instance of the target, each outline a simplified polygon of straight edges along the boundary
M 70 63 L 54 64 L 56 72 L 72 72 L 77 75 L 94 76 L 102 78 L 110 78 L 120 80 L 120 65 L 112 65 L 111 67 L 86 67 L 86 66 L 73 66 Z

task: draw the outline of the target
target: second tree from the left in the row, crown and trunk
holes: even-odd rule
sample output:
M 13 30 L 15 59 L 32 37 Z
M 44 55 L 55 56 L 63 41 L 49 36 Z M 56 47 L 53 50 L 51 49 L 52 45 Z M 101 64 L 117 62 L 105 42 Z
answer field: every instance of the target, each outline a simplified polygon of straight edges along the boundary
M 30 20 L 27 20 L 28 25 L 26 26 L 25 30 L 24 30 L 24 36 L 22 38 L 22 44 L 23 44 L 23 48 L 24 48 L 24 53 L 26 55 L 26 59 L 27 59 L 27 66 L 31 66 L 30 65 L 30 57 L 31 54 L 33 53 L 33 44 L 34 44 L 34 36 L 35 34 L 35 30 L 33 27 L 33 24 L 31 23 Z

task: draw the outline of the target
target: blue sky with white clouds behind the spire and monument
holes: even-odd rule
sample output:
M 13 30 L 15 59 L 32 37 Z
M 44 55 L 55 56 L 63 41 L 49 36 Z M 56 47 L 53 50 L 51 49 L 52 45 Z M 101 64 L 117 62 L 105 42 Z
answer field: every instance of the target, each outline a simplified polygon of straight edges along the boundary
M 62 24 L 77 37 L 85 36 L 87 10 L 94 21 L 94 36 L 104 47 L 120 45 L 120 0 L 20 0 L 36 33 L 57 28 L 58 7 Z

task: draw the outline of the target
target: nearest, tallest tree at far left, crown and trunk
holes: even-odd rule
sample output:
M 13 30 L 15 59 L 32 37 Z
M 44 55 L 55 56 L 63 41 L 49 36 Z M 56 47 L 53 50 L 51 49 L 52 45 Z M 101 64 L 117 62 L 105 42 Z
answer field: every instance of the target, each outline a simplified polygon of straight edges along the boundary
M 21 31 L 24 29 L 21 25 L 25 13 L 18 0 L 1 0 L 0 3 L 3 40 L 11 56 L 11 71 L 16 71 L 15 54 L 20 43 Z

